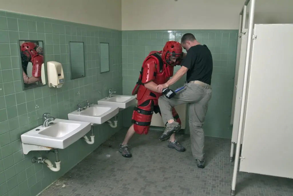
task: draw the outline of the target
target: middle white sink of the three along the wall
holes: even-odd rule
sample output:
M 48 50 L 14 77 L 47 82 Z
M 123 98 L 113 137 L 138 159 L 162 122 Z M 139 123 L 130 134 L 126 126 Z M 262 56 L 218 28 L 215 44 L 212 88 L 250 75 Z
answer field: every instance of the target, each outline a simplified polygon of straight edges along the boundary
M 74 110 L 68 114 L 69 120 L 78 120 L 84 122 L 91 122 L 92 124 L 103 124 L 107 120 L 117 115 L 119 108 L 110 105 L 91 105 L 81 111 Z

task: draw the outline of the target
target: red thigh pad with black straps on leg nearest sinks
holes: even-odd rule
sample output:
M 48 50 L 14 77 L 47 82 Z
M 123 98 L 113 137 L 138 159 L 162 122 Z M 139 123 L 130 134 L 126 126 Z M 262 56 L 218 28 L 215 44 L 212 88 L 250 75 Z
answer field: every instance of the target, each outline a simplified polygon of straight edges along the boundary
M 154 112 L 154 101 L 147 100 L 134 108 L 132 113 L 132 122 L 134 131 L 138 134 L 148 134 L 149 125 L 151 125 L 151 117 Z

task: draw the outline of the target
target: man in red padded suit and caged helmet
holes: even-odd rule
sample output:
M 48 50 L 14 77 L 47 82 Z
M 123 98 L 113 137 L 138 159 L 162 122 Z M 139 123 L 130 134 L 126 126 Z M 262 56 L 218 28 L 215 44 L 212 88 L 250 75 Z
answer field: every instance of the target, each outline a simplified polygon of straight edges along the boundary
M 182 47 L 179 42 L 168 41 L 162 51 L 152 51 L 144 59 L 137 85 L 132 95 L 137 94 L 137 107 L 132 114 L 133 125 L 128 129 L 124 141 L 120 144 L 119 151 L 126 158 L 132 157 L 127 146 L 128 141 L 134 135 L 147 134 L 151 124 L 153 112 L 160 113 L 158 99 L 162 95 L 157 90 L 158 84 L 163 84 L 173 76 L 174 66 L 181 63 L 183 57 Z M 173 108 L 173 117 L 181 124 L 179 115 Z M 168 139 L 168 138 L 166 138 Z M 185 148 L 175 139 L 173 133 L 169 139 L 168 147 L 183 152 Z

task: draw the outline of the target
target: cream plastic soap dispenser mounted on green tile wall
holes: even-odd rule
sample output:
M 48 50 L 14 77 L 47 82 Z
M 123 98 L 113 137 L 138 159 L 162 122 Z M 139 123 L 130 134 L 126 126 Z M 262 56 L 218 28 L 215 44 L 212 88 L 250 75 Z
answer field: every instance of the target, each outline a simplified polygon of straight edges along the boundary
M 62 87 L 64 83 L 64 73 L 62 69 L 62 64 L 56 61 L 48 61 L 47 76 L 49 87 Z

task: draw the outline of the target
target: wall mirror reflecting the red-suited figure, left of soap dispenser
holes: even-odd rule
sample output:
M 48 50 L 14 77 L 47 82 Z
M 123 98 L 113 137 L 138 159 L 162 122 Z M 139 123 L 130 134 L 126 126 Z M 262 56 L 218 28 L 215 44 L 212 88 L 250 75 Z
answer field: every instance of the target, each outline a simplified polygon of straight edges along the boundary
M 39 40 L 19 40 L 23 90 L 46 84 L 44 44 Z

